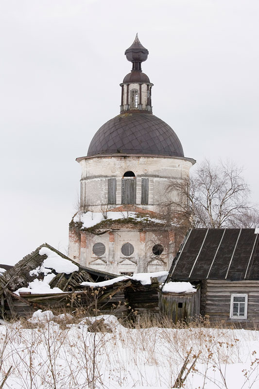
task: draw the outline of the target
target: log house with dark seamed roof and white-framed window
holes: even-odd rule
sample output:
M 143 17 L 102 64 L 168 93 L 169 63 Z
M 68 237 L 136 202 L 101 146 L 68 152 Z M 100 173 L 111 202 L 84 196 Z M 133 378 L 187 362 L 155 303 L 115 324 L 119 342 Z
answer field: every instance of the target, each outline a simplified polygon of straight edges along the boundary
M 258 242 L 254 229 L 192 229 L 166 282 L 196 285 L 200 313 L 211 321 L 238 322 L 243 327 L 259 322 Z

